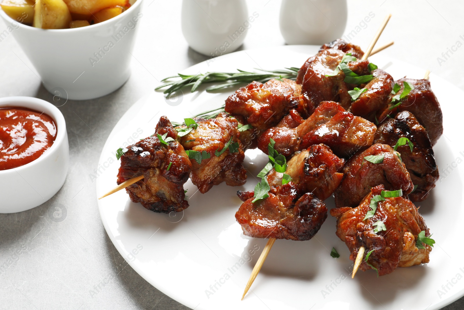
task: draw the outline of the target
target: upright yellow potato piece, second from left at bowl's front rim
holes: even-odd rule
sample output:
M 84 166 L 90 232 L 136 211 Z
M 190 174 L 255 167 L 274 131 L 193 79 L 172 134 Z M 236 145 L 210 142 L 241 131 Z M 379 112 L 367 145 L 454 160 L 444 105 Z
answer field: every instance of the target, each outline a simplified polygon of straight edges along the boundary
M 71 14 L 63 0 L 37 0 L 34 7 L 33 26 L 43 29 L 69 27 Z

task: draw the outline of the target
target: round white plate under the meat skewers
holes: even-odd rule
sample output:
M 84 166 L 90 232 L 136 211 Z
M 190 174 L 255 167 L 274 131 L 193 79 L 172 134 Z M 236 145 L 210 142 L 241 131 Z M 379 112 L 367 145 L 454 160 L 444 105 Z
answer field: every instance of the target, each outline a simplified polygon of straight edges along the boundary
M 192 66 L 183 73 L 299 67 L 317 49 L 282 46 L 241 51 Z M 425 69 L 400 60 L 382 58 L 381 53 L 371 61 L 395 79 L 406 74 L 422 78 L 425 73 Z M 236 191 L 253 189 L 258 181 L 253 176 L 267 162 L 258 150 L 246 152 L 244 165 L 249 174 L 244 186 L 221 184 L 201 194 L 188 181 L 185 188 L 190 207 L 184 212 L 167 215 L 148 211 L 141 204 L 132 203 L 125 191 L 103 198 L 98 206 L 104 227 L 136 272 L 192 309 L 440 309 L 464 295 L 464 152 L 459 152 L 464 151 L 460 126 L 464 93 L 435 75 L 430 79 L 445 123 L 445 134 L 434 147 L 441 178 L 429 198 L 419 203 L 437 242 L 430 264 L 398 268 L 379 278 L 374 270 L 358 272 L 352 280 L 348 248 L 335 236 L 335 218 L 329 215 L 316 237 L 309 241 L 277 240 L 249 294 L 240 301 L 266 242 L 245 237 L 234 218 L 241 203 Z M 116 185 L 117 148 L 151 135 L 161 115 L 180 121 L 220 106 L 230 93 L 186 92 L 167 104 L 162 93 L 153 92 L 135 103 L 103 147 L 97 196 Z M 334 207 L 333 198 L 327 199 L 326 204 Z M 338 259 L 329 255 L 333 246 L 340 253 Z

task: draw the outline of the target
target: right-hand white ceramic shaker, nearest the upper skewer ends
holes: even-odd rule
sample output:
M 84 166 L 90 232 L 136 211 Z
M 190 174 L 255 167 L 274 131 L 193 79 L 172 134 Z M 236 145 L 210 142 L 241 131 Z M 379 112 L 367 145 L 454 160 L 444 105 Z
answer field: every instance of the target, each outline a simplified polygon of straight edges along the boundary
M 345 31 L 346 0 L 282 0 L 280 32 L 287 44 L 322 45 Z

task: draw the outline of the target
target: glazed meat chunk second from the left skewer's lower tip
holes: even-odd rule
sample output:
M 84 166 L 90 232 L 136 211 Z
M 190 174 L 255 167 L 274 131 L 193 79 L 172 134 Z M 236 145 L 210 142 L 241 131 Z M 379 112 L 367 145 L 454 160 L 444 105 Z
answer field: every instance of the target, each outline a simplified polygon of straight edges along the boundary
M 216 119 L 194 119 L 198 124 L 197 129 L 183 137 L 179 142 L 186 150 L 206 152 L 209 158 L 202 159 L 200 164 L 191 159 L 192 171 L 190 178 L 201 193 L 209 191 L 213 185 L 226 182 L 230 186 L 244 185 L 246 182 L 246 169 L 243 167 L 245 153 L 241 144 L 237 129 L 237 120 L 231 117 L 218 117 Z M 179 126 L 178 128 L 185 128 Z M 231 140 L 232 139 L 232 140 Z M 236 152 L 231 152 L 230 147 L 222 154 L 216 156 L 224 146 L 231 141 L 231 145 L 238 142 Z

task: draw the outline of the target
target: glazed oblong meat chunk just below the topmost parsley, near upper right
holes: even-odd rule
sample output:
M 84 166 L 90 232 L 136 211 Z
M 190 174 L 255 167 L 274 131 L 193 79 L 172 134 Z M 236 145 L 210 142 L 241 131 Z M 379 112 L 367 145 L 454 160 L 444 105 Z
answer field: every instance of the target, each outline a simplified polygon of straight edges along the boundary
M 371 79 L 366 86 L 367 91 L 363 92 L 349 108 L 349 112 L 357 116 L 362 116 L 374 122 L 375 112 L 387 106 L 388 97 L 393 90 L 393 77 L 381 69 L 371 72 L 374 79 Z

